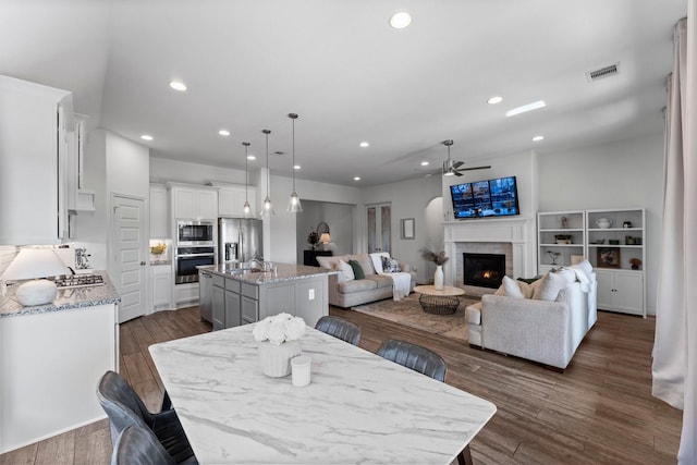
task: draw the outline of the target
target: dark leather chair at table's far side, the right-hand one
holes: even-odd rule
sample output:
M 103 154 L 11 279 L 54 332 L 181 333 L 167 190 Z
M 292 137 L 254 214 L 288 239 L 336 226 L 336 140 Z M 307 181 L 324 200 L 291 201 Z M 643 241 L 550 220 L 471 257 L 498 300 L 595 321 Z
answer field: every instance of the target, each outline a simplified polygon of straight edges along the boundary
M 394 362 L 421 375 L 429 376 L 438 381 L 445 382 L 448 366 L 436 352 L 406 341 L 389 339 L 378 348 L 378 355 Z M 457 454 L 460 465 L 472 465 L 469 444 Z

